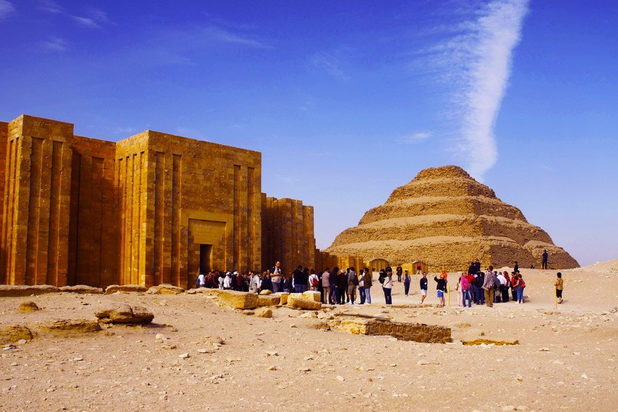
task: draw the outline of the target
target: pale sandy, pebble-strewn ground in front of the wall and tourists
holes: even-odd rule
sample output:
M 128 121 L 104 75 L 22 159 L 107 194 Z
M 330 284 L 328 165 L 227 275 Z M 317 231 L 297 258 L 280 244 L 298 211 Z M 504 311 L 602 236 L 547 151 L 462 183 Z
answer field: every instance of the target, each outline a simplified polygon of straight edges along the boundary
M 72 336 L 41 333 L 1 351 L 0 410 L 615 411 L 618 260 L 562 273 L 558 310 L 556 272 L 523 270 L 524 305 L 462 309 L 453 294 L 449 308 L 437 308 L 431 280 L 429 305 L 413 308 L 415 276 L 409 297 L 395 282 L 393 307 L 383 305 L 375 282 L 374 304 L 319 312 L 449 325 L 447 344 L 323 330 L 312 312 L 286 307 L 273 308 L 272 319 L 247 316 L 206 295 L 1 297 L 0 328 L 95 319 L 96 310 L 120 302 L 145 306 L 155 320 Z M 23 301 L 41 310 L 17 312 Z M 519 345 L 461 345 L 481 336 Z

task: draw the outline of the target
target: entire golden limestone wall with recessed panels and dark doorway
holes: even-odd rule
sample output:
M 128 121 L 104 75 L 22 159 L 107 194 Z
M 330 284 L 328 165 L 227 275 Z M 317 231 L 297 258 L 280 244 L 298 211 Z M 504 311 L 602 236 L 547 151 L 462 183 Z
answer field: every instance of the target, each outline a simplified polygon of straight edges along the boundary
M 313 267 L 312 207 L 265 203 L 261 171 L 260 152 L 151 130 L 114 143 L 0 122 L 0 283 L 186 288 L 200 271 L 260 269 L 263 250 Z

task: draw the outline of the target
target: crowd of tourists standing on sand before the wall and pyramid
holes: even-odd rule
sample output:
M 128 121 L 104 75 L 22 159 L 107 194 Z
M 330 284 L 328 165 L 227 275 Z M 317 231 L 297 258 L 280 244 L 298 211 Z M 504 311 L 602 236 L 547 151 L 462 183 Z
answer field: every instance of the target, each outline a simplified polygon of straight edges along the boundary
M 417 267 L 417 274 L 421 275 L 419 281 L 420 302 L 423 304 L 428 294 L 429 282 L 427 273 Z M 524 289 L 526 282 L 521 275 L 518 263 L 515 262 L 511 273 L 507 271 L 494 271 L 489 266 L 481 271 L 479 260 L 471 262 L 468 271 L 458 274 L 455 281 L 457 292 L 457 305 L 472 307 L 476 305 L 493 306 L 494 304 L 515 301 L 517 304 L 524 303 Z M 404 295 L 409 296 L 411 275 L 403 271 L 401 266 L 396 268 L 397 282 L 404 285 Z M 439 304 L 446 305 L 448 296 L 448 273 L 442 271 L 433 277 Z M 384 293 L 385 303 L 393 304 L 391 291 L 393 288 L 393 270 L 390 266 L 380 270 L 378 282 Z M 277 262 L 272 268 L 256 273 L 248 271 L 219 272 L 209 271 L 198 276 L 196 287 L 220 288 L 224 290 L 238 290 L 242 292 L 260 293 L 262 290 L 271 290 L 273 293 L 303 293 L 306 290 L 315 290 L 321 293 L 322 303 L 331 305 L 371 304 L 371 288 L 374 286 L 373 273 L 369 268 L 364 268 L 356 273 L 354 267 L 340 269 L 335 266 L 326 268 L 323 273 L 315 273 L 314 269 L 303 268 L 299 265 L 292 273 L 284 275 L 281 262 Z M 556 280 L 556 297 L 562 303 L 562 275 L 558 273 Z

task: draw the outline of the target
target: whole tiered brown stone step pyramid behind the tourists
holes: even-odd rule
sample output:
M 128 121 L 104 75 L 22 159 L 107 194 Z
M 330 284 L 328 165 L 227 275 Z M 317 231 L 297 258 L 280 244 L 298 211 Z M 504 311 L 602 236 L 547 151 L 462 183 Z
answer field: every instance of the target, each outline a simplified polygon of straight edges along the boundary
M 422 261 L 429 271 L 464 271 L 476 259 L 484 266 L 518 261 L 520 267 L 538 268 L 544 250 L 551 268 L 579 266 L 518 208 L 454 165 L 422 170 L 326 249 L 366 261 L 384 259 L 391 266 Z

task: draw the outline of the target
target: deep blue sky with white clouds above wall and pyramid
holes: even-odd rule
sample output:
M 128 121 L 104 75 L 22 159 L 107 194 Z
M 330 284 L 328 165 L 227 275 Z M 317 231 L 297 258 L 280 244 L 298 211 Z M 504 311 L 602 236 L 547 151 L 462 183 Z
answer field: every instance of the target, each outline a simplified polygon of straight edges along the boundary
M 580 264 L 618 258 L 618 2 L 0 0 L 0 119 L 262 152 L 318 247 L 464 167 Z

